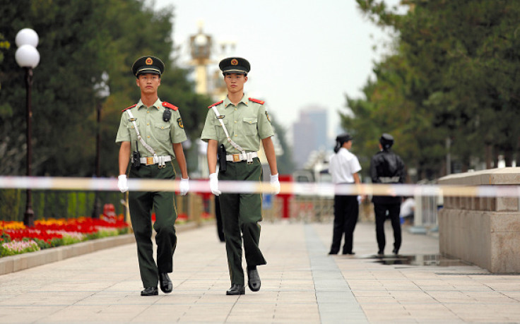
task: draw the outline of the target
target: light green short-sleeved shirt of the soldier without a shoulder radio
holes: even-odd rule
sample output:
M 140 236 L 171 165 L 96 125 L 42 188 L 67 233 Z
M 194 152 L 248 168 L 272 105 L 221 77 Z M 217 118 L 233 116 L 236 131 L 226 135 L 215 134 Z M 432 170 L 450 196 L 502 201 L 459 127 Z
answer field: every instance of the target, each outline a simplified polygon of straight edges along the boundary
M 260 149 L 260 140 L 274 136 L 271 121 L 266 112 L 264 104 L 247 99 L 244 95 L 242 100 L 235 106 L 228 97 L 223 102 L 216 104 L 225 128 L 228 129 L 230 138 L 240 145 L 246 152 L 256 152 Z M 209 109 L 206 123 L 202 130 L 201 140 L 218 140 L 224 144 L 228 154 L 238 153 L 227 140 L 224 130 L 218 121 L 213 109 Z

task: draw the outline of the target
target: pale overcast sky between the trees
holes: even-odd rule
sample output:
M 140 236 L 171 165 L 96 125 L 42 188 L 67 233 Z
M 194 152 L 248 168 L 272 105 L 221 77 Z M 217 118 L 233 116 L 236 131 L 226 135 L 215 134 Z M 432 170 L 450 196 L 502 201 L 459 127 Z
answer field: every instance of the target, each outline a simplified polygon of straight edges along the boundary
M 148 1 L 155 2 L 155 10 L 175 8 L 179 64 L 189 61 L 189 36 L 198 32 L 200 21 L 214 43 L 236 42 L 235 51 L 225 56 L 242 56 L 251 63 L 247 94 L 266 100 L 272 118 L 285 128 L 298 120 L 302 109 L 318 106 L 327 109 L 329 136 L 335 137 L 345 94 L 360 97 L 373 62 L 389 52 L 382 45 L 390 37 L 362 16 L 354 0 Z M 223 58 L 217 50 L 210 70 Z

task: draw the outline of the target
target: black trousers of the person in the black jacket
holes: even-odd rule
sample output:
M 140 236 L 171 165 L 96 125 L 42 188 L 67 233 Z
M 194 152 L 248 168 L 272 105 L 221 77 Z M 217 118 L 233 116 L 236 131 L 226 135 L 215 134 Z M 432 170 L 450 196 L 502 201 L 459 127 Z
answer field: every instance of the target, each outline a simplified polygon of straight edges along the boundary
M 401 220 L 399 212 L 401 211 L 401 203 L 374 203 L 374 213 L 376 215 L 376 238 L 379 251 L 384 251 L 386 239 L 384 237 L 384 221 L 386 220 L 386 212 L 394 229 L 394 249 L 396 251 L 401 248 Z

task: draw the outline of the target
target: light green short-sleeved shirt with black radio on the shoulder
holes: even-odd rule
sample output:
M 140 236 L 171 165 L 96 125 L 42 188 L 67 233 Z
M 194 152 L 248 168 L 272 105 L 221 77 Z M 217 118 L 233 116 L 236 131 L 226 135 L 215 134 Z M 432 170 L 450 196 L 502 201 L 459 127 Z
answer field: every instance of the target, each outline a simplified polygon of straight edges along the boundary
M 141 100 L 128 110 L 136 118 L 136 125 L 139 133 L 145 142 L 150 145 L 155 153 L 161 155 L 171 155 L 175 157 L 172 143 L 181 143 L 187 140 L 184 133 L 184 125 L 182 124 L 179 110 L 169 109 L 172 117 L 169 121 L 162 120 L 162 114 L 165 109 L 162 102 L 158 99 L 150 107 L 146 107 Z M 136 141 L 138 142 L 139 154 L 141 157 L 153 156 L 150 151 L 146 150 L 144 145 L 137 139 L 137 133 L 134 129 L 134 123 L 129 121 L 130 116 L 125 110 L 121 116 L 119 129 L 117 130 L 116 143 L 131 141 L 132 151 L 136 150 Z

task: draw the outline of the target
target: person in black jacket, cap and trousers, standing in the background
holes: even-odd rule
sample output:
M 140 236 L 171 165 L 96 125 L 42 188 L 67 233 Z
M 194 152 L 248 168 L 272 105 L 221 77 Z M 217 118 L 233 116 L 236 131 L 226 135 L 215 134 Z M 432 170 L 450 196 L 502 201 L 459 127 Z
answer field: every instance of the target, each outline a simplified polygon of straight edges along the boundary
M 391 150 L 394 145 L 394 137 L 384 133 L 379 138 L 379 152 L 370 161 L 370 175 L 373 184 L 403 184 L 405 181 L 404 163 L 401 157 Z M 400 196 L 373 196 L 374 213 L 376 215 L 376 238 L 379 250 L 377 254 L 384 254 L 386 239 L 384 237 L 384 221 L 386 217 L 391 220 L 394 229 L 394 254 L 398 254 L 401 248 L 401 211 Z

